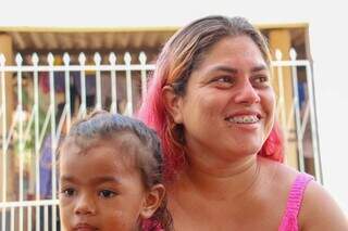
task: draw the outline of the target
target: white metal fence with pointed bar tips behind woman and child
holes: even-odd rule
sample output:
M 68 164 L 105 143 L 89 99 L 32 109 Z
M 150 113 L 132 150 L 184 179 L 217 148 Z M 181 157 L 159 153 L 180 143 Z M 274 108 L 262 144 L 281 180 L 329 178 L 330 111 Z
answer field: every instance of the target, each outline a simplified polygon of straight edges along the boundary
M 132 115 L 154 68 L 147 64 L 145 53 L 137 64 L 129 53 L 123 64 L 117 64 L 114 53 L 107 62 L 96 53 L 88 65 L 84 53 L 75 64 L 67 53 L 61 65 L 54 61 L 49 54 L 47 64 L 41 64 L 33 54 L 26 64 L 17 54 L 15 65 L 7 65 L 0 55 L 1 231 L 59 230 L 54 152 L 61 133 L 74 117 L 84 117 L 89 106 Z M 272 66 L 286 146 L 296 146 L 288 155 L 295 155 L 299 170 L 312 171 L 321 181 L 311 64 L 296 60 L 291 50 L 288 61 L 282 61 L 277 51 Z M 307 169 L 307 162 L 313 162 L 312 170 Z

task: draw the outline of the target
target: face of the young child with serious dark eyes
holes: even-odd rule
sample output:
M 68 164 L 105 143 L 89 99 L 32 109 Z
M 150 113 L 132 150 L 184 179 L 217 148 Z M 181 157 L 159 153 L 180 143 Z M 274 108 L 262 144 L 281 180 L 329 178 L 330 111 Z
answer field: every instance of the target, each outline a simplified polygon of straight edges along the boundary
M 69 144 L 60 157 L 63 230 L 137 230 L 148 192 L 132 157 L 105 142 L 79 153 Z

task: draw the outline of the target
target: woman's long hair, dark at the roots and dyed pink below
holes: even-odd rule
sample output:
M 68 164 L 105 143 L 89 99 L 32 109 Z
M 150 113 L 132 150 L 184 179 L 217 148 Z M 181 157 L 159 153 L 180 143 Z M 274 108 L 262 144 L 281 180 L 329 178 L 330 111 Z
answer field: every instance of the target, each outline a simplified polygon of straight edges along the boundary
M 137 117 L 154 129 L 162 141 L 165 177 L 173 177 L 186 158 L 185 146 L 179 141 L 184 134 L 175 131 L 176 124 L 166 110 L 162 89 L 179 82 L 182 89 L 178 93 L 184 95 L 190 72 L 197 68 L 211 46 L 227 36 L 250 37 L 260 48 L 264 60 L 270 63 L 268 46 L 262 35 L 245 18 L 224 16 L 203 17 L 182 28 L 166 42 L 157 61 L 148 93 L 142 99 Z M 273 126 L 258 155 L 283 162 L 283 137 L 277 124 Z

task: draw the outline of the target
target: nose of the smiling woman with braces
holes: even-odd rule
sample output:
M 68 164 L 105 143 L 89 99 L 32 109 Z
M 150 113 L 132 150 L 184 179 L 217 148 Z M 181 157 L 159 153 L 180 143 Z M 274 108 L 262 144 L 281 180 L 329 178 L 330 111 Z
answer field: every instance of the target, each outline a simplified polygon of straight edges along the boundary
M 243 104 L 253 104 L 260 102 L 260 95 L 250 81 L 240 84 L 235 94 L 235 102 Z

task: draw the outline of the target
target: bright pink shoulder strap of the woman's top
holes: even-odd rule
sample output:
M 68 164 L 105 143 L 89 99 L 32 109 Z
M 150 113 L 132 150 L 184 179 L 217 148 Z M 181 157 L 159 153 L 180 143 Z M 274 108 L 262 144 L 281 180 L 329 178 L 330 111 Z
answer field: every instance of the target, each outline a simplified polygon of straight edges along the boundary
M 313 179 L 307 174 L 299 174 L 289 192 L 285 213 L 278 231 L 298 231 L 298 214 L 301 209 L 303 194 L 307 184 Z

